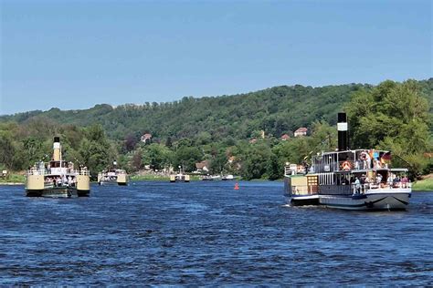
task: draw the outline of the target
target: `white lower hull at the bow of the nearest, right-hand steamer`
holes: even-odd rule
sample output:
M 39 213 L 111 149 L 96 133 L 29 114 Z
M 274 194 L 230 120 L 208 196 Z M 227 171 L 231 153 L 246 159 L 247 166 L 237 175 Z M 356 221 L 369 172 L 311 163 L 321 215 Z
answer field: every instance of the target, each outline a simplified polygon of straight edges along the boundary
M 344 210 L 405 210 L 410 195 L 410 189 L 380 189 L 350 196 L 320 195 L 319 201 L 326 207 Z

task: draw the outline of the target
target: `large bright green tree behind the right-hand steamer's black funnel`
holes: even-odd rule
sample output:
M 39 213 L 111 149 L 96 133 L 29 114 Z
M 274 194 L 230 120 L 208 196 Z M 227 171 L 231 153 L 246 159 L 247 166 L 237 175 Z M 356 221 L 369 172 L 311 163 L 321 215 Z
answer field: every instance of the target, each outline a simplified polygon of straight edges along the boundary
M 353 148 L 391 150 L 394 164 L 415 174 L 428 165 L 421 154 L 431 149 L 428 100 L 416 81 L 385 81 L 371 91 L 359 91 L 347 105 Z

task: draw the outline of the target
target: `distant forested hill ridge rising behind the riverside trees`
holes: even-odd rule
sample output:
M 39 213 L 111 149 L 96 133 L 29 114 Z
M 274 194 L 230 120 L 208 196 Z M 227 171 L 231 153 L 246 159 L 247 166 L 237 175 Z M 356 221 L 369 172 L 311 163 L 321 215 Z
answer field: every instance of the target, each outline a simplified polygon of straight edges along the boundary
M 433 78 L 417 81 L 433 103 Z M 61 124 L 88 126 L 100 123 L 111 139 L 124 139 L 150 132 L 156 139 L 194 137 L 201 131 L 213 139 L 231 136 L 246 139 L 254 131 L 265 130 L 280 137 L 300 127 L 310 127 L 315 120 L 335 123 L 335 116 L 354 91 L 371 85 L 347 84 L 326 87 L 271 87 L 234 96 L 182 98 L 167 103 L 126 104 L 116 108 L 101 104 L 83 110 L 51 108 L 0 117 L 0 121 L 23 123 L 34 118 L 48 118 Z M 143 99 L 144 100 L 144 99 Z

